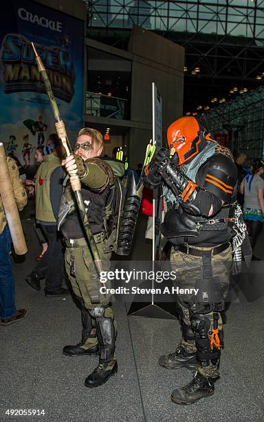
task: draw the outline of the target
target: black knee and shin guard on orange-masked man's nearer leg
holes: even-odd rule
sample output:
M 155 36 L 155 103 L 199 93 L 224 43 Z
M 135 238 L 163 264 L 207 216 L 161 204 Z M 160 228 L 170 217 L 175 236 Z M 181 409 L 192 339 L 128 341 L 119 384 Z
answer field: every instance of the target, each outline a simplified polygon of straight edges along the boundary
M 218 365 L 219 349 L 216 345 L 211 346 L 210 335 L 211 322 L 204 314 L 193 314 L 190 323 L 195 333 L 195 344 L 197 347 L 197 360 L 201 366 Z

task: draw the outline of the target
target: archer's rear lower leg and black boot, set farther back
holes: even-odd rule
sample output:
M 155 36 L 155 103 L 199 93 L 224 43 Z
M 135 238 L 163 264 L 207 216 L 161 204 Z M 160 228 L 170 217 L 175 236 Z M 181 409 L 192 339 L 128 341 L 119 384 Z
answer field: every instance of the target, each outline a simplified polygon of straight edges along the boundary
M 92 325 L 92 319 L 89 311 L 85 308 L 83 301 L 80 301 L 80 309 L 82 316 L 82 339 L 76 345 L 66 345 L 63 348 L 63 354 L 66 356 L 89 356 L 92 354 L 98 354 L 99 345 L 96 339 L 96 327 Z

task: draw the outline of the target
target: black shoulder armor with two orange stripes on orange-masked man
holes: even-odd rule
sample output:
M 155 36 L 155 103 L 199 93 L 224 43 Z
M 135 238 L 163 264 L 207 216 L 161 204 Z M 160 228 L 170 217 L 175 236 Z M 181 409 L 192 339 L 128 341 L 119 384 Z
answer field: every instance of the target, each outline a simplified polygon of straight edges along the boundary
M 228 148 L 225 148 L 228 150 Z M 229 151 L 229 150 L 228 150 Z M 230 152 L 231 154 L 231 152 Z M 231 154 L 232 155 L 232 154 Z M 203 188 L 217 197 L 230 203 L 237 181 L 236 165 L 229 155 L 216 153 L 210 157 L 206 165 Z

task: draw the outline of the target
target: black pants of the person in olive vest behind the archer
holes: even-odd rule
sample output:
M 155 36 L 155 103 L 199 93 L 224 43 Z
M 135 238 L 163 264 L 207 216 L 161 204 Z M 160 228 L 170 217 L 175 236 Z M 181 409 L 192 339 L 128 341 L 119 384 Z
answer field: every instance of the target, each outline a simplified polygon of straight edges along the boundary
M 64 277 L 63 245 L 56 225 L 40 224 L 47 239 L 47 252 L 34 269 L 39 277 L 46 277 L 46 290 L 54 292 L 61 288 Z

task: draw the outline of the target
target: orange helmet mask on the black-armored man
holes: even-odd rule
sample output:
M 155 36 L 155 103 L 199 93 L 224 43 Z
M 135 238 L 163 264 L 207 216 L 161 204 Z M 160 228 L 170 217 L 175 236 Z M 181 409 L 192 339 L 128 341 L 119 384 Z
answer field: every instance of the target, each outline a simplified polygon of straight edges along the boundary
M 177 152 L 179 165 L 193 159 L 206 145 L 214 141 L 210 133 L 200 127 L 195 117 L 180 117 L 168 126 L 167 141 L 170 152 Z M 173 151 L 173 149 L 175 151 Z

